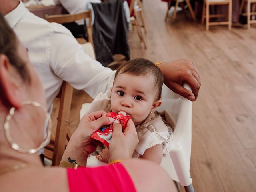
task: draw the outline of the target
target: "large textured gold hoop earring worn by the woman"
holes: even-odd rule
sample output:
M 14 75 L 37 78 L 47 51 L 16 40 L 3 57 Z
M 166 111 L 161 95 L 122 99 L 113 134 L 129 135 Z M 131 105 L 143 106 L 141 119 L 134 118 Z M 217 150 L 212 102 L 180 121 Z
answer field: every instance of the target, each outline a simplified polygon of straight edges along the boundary
M 38 148 L 35 148 L 35 149 L 22 149 L 22 148 L 20 148 L 20 146 L 17 143 L 15 143 L 12 140 L 11 135 L 10 135 L 9 121 L 12 118 L 12 116 L 14 115 L 15 107 L 12 107 L 9 111 L 9 114 L 6 116 L 6 119 L 5 119 L 5 122 L 4 122 L 4 133 L 5 133 L 6 139 L 8 140 L 10 146 L 14 150 L 17 150 L 18 152 L 22 152 L 22 153 L 33 154 L 33 153 L 39 151 L 41 148 L 44 148 L 49 143 L 50 137 L 51 137 L 52 121 L 51 121 L 50 114 L 46 111 L 44 106 L 42 106 L 40 103 L 38 103 L 36 101 L 24 101 L 24 102 L 22 102 L 22 105 L 27 105 L 27 104 L 32 104 L 36 107 L 39 107 L 43 110 L 43 112 L 45 112 L 46 119 L 48 120 L 48 130 L 47 130 L 46 139 L 42 142 L 42 144 L 40 144 L 40 146 Z

